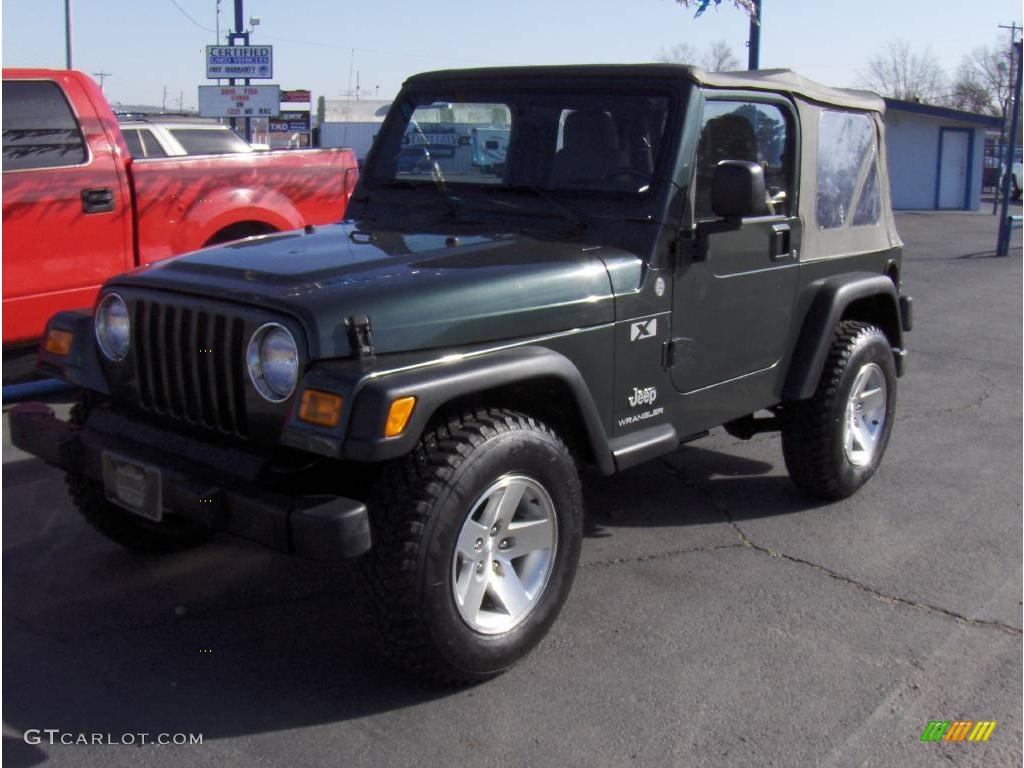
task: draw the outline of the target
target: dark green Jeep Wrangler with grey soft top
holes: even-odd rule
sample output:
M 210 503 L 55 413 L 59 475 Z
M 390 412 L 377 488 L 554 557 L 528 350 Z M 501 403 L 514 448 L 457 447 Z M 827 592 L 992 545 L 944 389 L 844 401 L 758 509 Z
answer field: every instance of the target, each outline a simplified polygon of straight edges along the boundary
M 819 499 L 873 474 L 911 309 L 883 111 L 786 71 L 418 75 L 347 220 L 54 316 L 39 369 L 83 396 L 67 423 L 14 409 L 13 440 L 119 544 L 357 556 L 387 656 L 486 679 L 565 602 L 582 466 L 724 426 L 780 431 Z M 474 133 L 500 162 L 474 164 Z

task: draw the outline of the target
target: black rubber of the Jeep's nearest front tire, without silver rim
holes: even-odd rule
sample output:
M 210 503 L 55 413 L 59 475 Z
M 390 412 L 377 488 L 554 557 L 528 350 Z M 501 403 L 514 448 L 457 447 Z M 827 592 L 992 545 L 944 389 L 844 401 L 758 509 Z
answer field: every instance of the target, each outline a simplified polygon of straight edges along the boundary
M 546 587 L 520 624 L 482 634 L 453 595 L 456 541 L 474 502 L 506 475 L 541 483 L 556 510 Z M 540 421 L 513 411 L 462 412 L 436 422 L 382 474 L 371 500 L 373 549 L 357 568 L 364 613 L 392 664 L 432 683 L 467 685 L 505 672 L 548 632 L 568 596 L 583 536 L 572 457 Z

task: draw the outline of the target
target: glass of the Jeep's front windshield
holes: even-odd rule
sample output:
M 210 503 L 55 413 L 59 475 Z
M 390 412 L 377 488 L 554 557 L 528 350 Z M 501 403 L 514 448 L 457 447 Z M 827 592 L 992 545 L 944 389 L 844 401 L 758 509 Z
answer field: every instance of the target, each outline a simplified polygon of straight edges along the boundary
M 460 196 L 642 196 L 665 165 L 673 103 L 670 92 L 635 89 L 408 92 L 378 139 L 368 182 Z

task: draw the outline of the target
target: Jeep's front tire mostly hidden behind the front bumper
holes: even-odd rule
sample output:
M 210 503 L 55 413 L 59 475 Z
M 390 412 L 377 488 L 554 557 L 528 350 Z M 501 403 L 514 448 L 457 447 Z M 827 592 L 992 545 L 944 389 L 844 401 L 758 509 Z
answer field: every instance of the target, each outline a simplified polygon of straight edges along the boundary
M 82 424 L 87 415 L 88 407 L 80 402 L 72 409 L 71 421 Z M 108 501 L 103 483 L 86 475 L 66 472 L 65 482 L 86 522 L 127 549 L 152 554 L 179 552 L 203 544 L 208 537 L 205 528 L 181 517 L 154 522 L 133 515 Z

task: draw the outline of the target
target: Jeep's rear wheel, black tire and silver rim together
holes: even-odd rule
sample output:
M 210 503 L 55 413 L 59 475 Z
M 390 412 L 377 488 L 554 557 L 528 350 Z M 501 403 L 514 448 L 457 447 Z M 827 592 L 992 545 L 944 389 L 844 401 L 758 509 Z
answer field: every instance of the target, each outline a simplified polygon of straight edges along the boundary
M 790 477 L 820 499 L 850 496 L 878 469 L 895 411 L 896 367 L 885 334 L 866 323 L 840 323 L 814 396 L 785 406 Z

